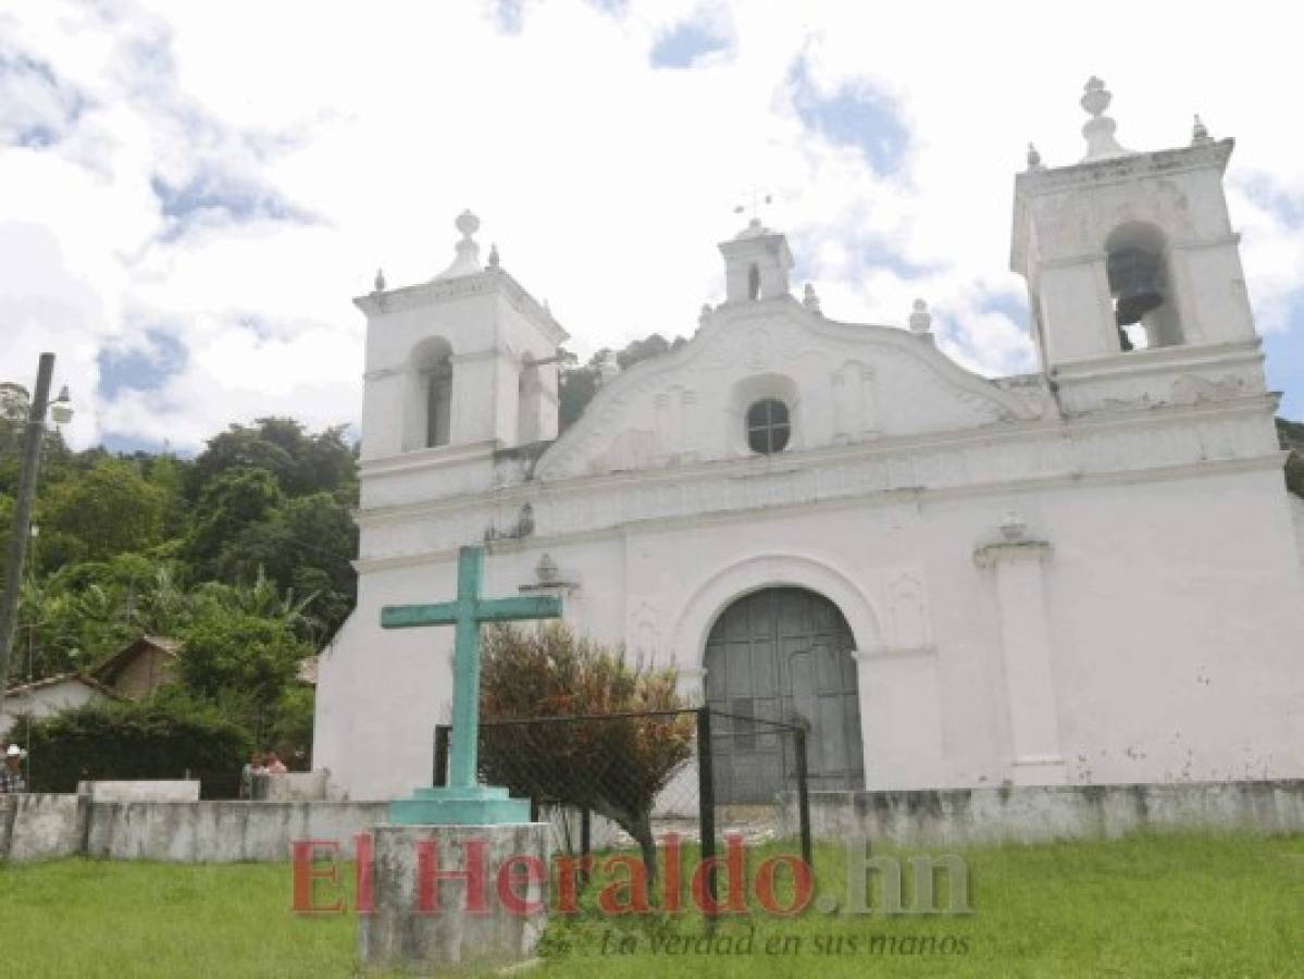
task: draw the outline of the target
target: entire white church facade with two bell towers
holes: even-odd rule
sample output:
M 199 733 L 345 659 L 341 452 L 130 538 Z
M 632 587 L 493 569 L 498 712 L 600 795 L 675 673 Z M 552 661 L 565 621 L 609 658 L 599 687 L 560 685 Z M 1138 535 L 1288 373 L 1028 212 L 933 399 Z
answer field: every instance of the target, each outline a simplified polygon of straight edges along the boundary
M 368 317 L 357 607 L 321 657 L 314 767 L 428 785 L 451 630 L 558 594 L 686 695 L 811 730 L 812 787 L 1304 777 L 1304 571 L 1222 176 L 1230 139 L 1089 151 L 1016 179 L 1039 370 L 988 379 L 909 327 L 794 299 L 784 236 L 720 250 L 692 339 L 609 364 L 558 437 L 566 332 L 472 235 Z M 1292 512 L 1295 516 L 1292 518 Z M 737 746 L 741 780 L 772 759 Z

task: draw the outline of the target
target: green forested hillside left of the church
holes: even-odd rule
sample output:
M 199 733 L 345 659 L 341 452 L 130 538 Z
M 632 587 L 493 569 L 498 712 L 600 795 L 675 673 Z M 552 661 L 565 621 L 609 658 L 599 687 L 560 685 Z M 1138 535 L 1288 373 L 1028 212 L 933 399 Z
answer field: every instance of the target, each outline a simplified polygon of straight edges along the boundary
M 21 429 L 0 420 L 4 544 Z M 343 429 L 262 418 L 193 459 L 72 452 L 53 433 L 9 683 L 87 671 L 141 635 L 168 636 L 184 644 L 179 695 L 257 742 L 306 747 L 312 691 L 296 670 L 353 605 L 356 502 Z

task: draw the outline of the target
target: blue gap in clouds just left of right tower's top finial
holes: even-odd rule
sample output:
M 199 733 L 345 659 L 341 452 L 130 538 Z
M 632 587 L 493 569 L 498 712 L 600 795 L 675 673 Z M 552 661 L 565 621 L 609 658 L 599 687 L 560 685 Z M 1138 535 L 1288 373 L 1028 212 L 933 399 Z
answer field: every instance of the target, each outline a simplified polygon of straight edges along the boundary
M 832 95 L 820 94 L 805 59 L 793 65 L 789 83 L 793 106 L 807 128 L 829 142 L 859 147 L 876 173 L 895 173 L 901 167 L 910 133 L 887 95 L 868 85 L 844 85 Z

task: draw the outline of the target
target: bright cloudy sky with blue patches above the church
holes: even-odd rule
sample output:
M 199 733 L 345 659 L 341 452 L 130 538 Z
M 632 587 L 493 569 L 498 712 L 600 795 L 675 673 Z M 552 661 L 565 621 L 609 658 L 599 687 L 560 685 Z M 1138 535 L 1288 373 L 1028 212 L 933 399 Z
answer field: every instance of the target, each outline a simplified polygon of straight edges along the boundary
M 1084 151 L 1090 74 L 1133 149 L 1235 136 L 1269 381 L 1304 416 L 1304 90 L 1279 4 L 0 0 L 0 379 L 37 353 L 74 445 L 189 451 L 230 421 L 360 416 L 363 317 L 454 216 L 582 355 L 691 335 L 716 242 L 775 197 L 827 314 L 1033 368 L 1013 175 Z M 1273 29 L 1277 23 L 1278 29 Z

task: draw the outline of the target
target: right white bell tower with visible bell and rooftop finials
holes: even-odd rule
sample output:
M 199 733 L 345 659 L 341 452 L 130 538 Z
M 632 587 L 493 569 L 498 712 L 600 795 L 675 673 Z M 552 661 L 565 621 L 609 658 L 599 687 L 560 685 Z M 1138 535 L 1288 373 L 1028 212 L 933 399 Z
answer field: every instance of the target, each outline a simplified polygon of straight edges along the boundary
M 1028 282 L 1042 370 L 1089 408 L 1099 398 L 1163 400 L 1172 372 L 1218 361 L 1262 390 L 1262 355 L 1222 177 L 1231 139 L 1196 117 L 1188 146 L 1134 153 L 1091 78 L 1081 98 L 1086 155 L 1048 168 L 1029 147 L 1015 181 L 1011 267 Z M 1101 382 L 1127 373 L 1127 392 Z M 1142 374 L 1168 374 L 1154 383 Z M 1151 390 L 1153 388 L 1153 390 Z

